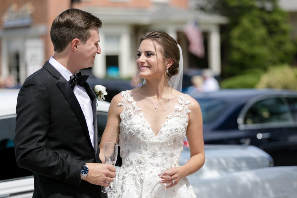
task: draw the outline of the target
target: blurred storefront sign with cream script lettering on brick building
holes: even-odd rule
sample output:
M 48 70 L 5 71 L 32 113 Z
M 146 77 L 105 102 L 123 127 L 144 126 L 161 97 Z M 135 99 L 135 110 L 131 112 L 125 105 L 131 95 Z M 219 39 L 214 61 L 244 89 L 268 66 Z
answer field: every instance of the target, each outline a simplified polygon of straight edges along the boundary
M 34 7 L 31 2 L 24 4 L 18 9 L 17 4 L 8 7 L 7 12 L 2 16 L 3 28 L 14 28 L 29 26 L 33 23 L 32 13 Z

